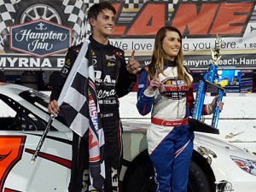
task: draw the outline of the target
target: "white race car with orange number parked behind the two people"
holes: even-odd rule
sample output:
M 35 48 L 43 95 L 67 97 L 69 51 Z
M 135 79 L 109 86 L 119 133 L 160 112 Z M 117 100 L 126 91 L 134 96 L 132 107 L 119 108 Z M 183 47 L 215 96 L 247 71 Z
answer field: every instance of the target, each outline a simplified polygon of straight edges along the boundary
M 67 192 L 72 131 L 55 118 L 34 164 L 32 156 L 49 121 L 49 95 L 19 84 L 0 84 L 0 191 Z M 8 111 L 8 115 L 2 113 Z M 122 114 L 121 114 L 122 116 Z M 143 119 L 123 119 L 123 192 L 154 191 Z M 189 192 L 254 192 L 256 156 L 212 134 L 195 132 Z

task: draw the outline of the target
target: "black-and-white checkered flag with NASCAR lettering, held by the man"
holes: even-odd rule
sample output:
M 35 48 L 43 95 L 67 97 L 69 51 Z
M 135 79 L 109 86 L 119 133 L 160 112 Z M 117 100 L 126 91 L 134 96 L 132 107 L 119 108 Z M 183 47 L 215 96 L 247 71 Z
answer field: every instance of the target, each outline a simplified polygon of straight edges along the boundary
M 89 131 L 90 183 L 95 189 L 102 190 L 105 178 L 105 141 L 94 84 L 94 67 L 90 57 L 90 41 L 86 39 L 67 76 L 58 104 L 70 129 L 84 139 Z

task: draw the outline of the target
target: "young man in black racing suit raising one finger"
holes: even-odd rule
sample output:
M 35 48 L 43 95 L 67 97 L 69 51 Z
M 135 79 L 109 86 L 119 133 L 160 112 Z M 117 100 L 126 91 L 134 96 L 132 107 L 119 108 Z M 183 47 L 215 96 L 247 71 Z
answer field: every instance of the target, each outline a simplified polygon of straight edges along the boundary
M 109 44 L 109 36 L 113 34 L 116 10 L 110 3 L 98 3 L 90 7 L 88 20 L 92 29 L 90 35 L 91 57 L 96 73 L 96 91 L 100 112 L 102 116 L 102 127 L 105 136 L 104 160 L 106 166 L 106 180 L 104 192 L 119 191 L 120 160 L 122 159 L 122 126 L 119 119 L 119 100 L 121 96 L 128 94 L 132 85 L 136 83 L 136 74 L 139 63 L 134 59 L 134 52 L 126 65 L 124 51 Z M 61 75 L 53 78 L 53 90 L 50 96 L 49 113 L 59 113 L 57 99 L 67 74 L 71 70 L 74 61 L 79 54 L 81 44 L 68 49 L 65 66 Z M 84 170 L 88 177 L 88 141 L 81 139 L 73 133 L 73 161 L 70 192 L 81 192 L 84 190 Z M 85 179 L 86 180 L 86 179 Z

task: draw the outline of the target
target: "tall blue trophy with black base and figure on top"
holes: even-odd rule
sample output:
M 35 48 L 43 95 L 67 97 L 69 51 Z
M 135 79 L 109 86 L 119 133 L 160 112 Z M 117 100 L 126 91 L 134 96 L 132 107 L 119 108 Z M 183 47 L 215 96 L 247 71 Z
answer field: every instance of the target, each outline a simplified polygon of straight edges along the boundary
M 224 39 L 217 35 L 215 40 L 215 48 L 212 50 L 212 59 L 208 68 L 207 74 L 204 76 L 204 80 L 199 82 L 198 90 L 196 91 L 195 104 L 192 109 L 192 118 L 189 118 L 189 125 L 193 131 L 207 132 L 219 134 L 217 129 L 218 117 L 220 108 L 217 106 L 217 102 L 222 102 L 224 96 L 224 88 L 215 84 L 215 80 L 218 79 L 218 60 L 220 45 L 223 44 Z M 206 92 L 217 93 L 218 101 L 215 102 L 212 113 L 212 125 L 207 125 L 203 121 L 202 110 L 204 106 L 204 100 Z

